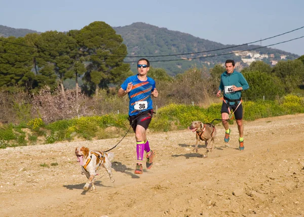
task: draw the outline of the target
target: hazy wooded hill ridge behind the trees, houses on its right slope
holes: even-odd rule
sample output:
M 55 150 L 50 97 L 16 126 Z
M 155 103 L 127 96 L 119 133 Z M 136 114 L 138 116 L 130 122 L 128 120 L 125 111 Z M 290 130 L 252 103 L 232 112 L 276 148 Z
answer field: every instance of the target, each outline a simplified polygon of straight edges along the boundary
M 155 68 L 164 68 L 166 72 L 170 75 L 182 73 L 194 65 L 196 65 L 197 67 L 206 66 L 208 68 L 212 68 L 215 64 L 223 64 L 225 60 L 229 58 L 234 59 L 236 61 L 237 68 L 240 70 L 244 66 L 248 66 L 248 64 L 250 64 L 250 61 L 253 60 L 262 60 L 264 62 L 267 62 L 268 64 L 275 64 L 282 58 L 292 60 L 299 57 L 298 55 L 291 54 L 278 49 L 260 48 L 260 46 L 257 45 L 246 45 L 214 52 L 194 54 L 196 52 L 204 52 L 233 47 L 234 45 L 223 45 L 218 42 L 195 37 L 188 33 L 172 31 L 168 30 L 167 28 L 160 28 L 142 22 L 133 23 L 131 25 L 123 27 L 113 27 L 113 29 L 115 29 L 118 34 L 122 35 L 124 39 L 124 44 L 128 48 L 128 56 L 145 57 L 149 61 L 151 61 L 151 66 Z M 30 29 L 16 29 L 0 25 L 0 36 L 4 37 L 23 37 L 27 33 L 33 32 L 37 31 Z M 253 50 L 250 52 L 229 54 L 232 52 L 245 51 L 254 48 L 260 49 Z M 191 54 L 166 57 L 148 57 L 156 55 L 176 55 L 186 53 Z M 260 59 L 258 59 L 256 55 L 262 56 L 259 57 Z M 254 59 L 253 56 L 257 59 Z M 125 58 L 125 61 L 137 61 L 139 57 L 127 57 Z M 131 63 L 131 69 L 132 71 L 136 72 L 135 63 Z

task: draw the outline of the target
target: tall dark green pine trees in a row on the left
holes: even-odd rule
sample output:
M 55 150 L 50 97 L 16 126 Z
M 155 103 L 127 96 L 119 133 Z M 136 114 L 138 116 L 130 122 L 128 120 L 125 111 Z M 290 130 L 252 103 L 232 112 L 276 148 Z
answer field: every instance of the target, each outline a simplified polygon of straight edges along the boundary
M 14 91 L 16 85 L 34 92 L 63 81 L 83 77 L 83 90 L 98 93 L 109 84 L 118 84 L 132 74 L 123 63 L 127 48 L 123 39 L 105 22 L 93 22 L 81 30 L 66 33 L 47 31 L 24 37 L 0 38 L 0 87 Z M 21 46 L 24 45 L 24 46 Z

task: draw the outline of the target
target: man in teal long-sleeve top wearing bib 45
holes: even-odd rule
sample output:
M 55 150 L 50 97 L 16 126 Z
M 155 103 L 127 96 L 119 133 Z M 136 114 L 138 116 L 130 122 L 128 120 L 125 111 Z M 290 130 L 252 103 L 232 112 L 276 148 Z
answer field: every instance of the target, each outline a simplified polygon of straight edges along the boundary
M 229 128 L 229 114 L 233 110 L 239 130 L 239 150 L 244 150 L 244 126 L 243 126 L 243 106 L 241 91 L 249 89 L 249 84 L 245 77 L 235 71 L 235 62 L 226 60 L 226 71 L 220 76 L 220 84 L 216 96 L 220 97 L 222 91 L 223 103 L 221 107 L 222 124 L 225 127 L 225 143 L 230 140 L 231 129 Z

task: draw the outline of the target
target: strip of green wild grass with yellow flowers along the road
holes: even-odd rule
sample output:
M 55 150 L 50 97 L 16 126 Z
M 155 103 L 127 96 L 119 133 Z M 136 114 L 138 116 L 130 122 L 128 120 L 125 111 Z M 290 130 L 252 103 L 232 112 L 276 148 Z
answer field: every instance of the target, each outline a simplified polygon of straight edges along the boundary
M 221 103 L 212 103 L 209 107 L 171 103 L 158 109 L 149 129 L 154 132 L 167 132 L 184 129 L 194 120 L 210 123 L 220 119 Z M 243 102 L 244 120 L 274 117 L 286 114 L 304 113 L 303 98 L 287 95 L 275 101 Z M 216 120 L 215 124 L 220 123 Z M 235 121 L 231 120 L 234 124 Z M 21 130 L 30 129 L 30 136 Z M 26 124 L 2 124 L 0 126 L 0 148 L 37 144 L 38 137 L 44 137 L 44 143 L 83 140 L 107 139 L 123 136 L 129 128 L 127 114 L 104 114 L 73 117 L 46 124 L 39 118 L 31 119 Z

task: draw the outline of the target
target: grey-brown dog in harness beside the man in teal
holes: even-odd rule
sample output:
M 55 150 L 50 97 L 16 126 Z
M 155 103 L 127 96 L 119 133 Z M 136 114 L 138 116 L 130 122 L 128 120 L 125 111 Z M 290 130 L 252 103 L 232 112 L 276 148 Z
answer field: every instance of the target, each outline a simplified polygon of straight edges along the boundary
M 193 121 L 192 124 L 188 127 L 188 129 L 191 129 L 192 132 L 196 132 L 196 144 L 195 144 L 195 151 L 198 153 L 198 145 L 199 142 L 205 141 L 206 145 L 206 154 L 204 154 L 204 157 L 208 156 L 208 152 L 213 151 L 214 147 L 214 139 L 216 136 L 216 128 L 211 123 L 203 123 L 201 121 Z M 211 144 L 212 142 L 212 144 Z

